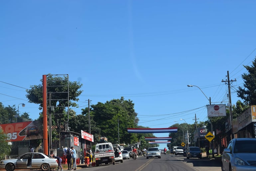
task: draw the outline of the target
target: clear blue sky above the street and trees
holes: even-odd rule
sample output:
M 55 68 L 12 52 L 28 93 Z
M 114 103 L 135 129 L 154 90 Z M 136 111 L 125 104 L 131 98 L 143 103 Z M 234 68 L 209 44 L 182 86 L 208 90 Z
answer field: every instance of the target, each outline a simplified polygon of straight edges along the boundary
M 77 114 L 88 99 L 124 96 L 141 126 L 192 124 L 195 114 L 206 121 L 208 100 L 187 85 L 200 87 L 213 104 L 227 104 L 221 80 L 229 71 L 237 80 L 232 104 L 239 100 L 243 65 L 256 56 L 255 7 L 255 1 L 1 1 L 0 102 L 25 103 L 20 113 L 37 119 L 41 111 L 24 88 L 45 74 L 68 74 L 83 84 Z

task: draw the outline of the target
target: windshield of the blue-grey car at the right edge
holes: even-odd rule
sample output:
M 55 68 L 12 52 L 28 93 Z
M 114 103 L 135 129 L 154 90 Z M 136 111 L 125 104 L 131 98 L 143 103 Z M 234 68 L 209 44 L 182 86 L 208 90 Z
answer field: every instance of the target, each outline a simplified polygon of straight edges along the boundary
M 236 141 L 234 153 L 256 153 L 256 141 Z

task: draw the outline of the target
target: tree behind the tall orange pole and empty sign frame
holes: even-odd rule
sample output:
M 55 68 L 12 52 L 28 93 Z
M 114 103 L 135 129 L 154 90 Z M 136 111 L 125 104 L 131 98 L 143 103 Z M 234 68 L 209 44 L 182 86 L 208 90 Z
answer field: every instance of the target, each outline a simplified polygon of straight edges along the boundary
M 41 82 L 43 80 L 41 79 Z M 69 89 L 67 87 L 69 85 Z M 71 82 L 68 80 L 67 76 L 53 76 L 49 74 L 47 76 L 47 91 L 51 93 L 51 99 L 58 99 L 58 100 L 51 100 L 50 106 L 54 106 L 54 111 L 51 111 L 52 120 L 57 127 L 58 138 L 61 137 L 61 127 L 67 122 L 67 118 L 64 118 L 65 115 L 65 106 L 76 107 L 77 104 L 74 101 L 78 101 L 78 96 L 82 93 L 79 90 L 82 86 L 79 82 Z M 30 87 L 31 89 L 26 90 L 27 95 L 26 97 L 29 99 L 29 103 L 36 103 L 39 104 L 39 109 L 43 109 L 43 85 L 34 85 Z M 57 92 L 68 92 L 69 91 L 69 102 L 67 99 L 67 93 L 57 93 Z M 48 94 L 49 100 L 49 94 Z M 48 104 L 49 106 L 49 104 Z M 59 141 L 59 147 L 61 147 L 61 142 Z

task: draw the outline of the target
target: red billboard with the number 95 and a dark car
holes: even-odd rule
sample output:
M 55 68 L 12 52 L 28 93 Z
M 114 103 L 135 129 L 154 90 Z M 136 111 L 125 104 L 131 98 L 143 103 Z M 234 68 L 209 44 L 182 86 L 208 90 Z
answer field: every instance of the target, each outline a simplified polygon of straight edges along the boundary
M 43 124 L 40 121 L 2 124 L 0 129 L 6 133 L 9 141 L 43 139 Z

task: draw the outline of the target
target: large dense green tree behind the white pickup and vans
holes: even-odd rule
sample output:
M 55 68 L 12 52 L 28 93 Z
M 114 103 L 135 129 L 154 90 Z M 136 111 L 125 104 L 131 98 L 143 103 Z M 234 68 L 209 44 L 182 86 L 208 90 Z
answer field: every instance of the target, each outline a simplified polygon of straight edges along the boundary
M 113 99 L 105 104 L 98 102 L 91 105 L 91 116 L 96 125 L 101 129 L 101 136 L 106 136 L 110 142 L 118 142 L 118 121 L 120 143 L 134 144 L 138 137 L 128 133 L 127 128 L 136 128 L 138 123 L 134 103 L 129 100 Z

